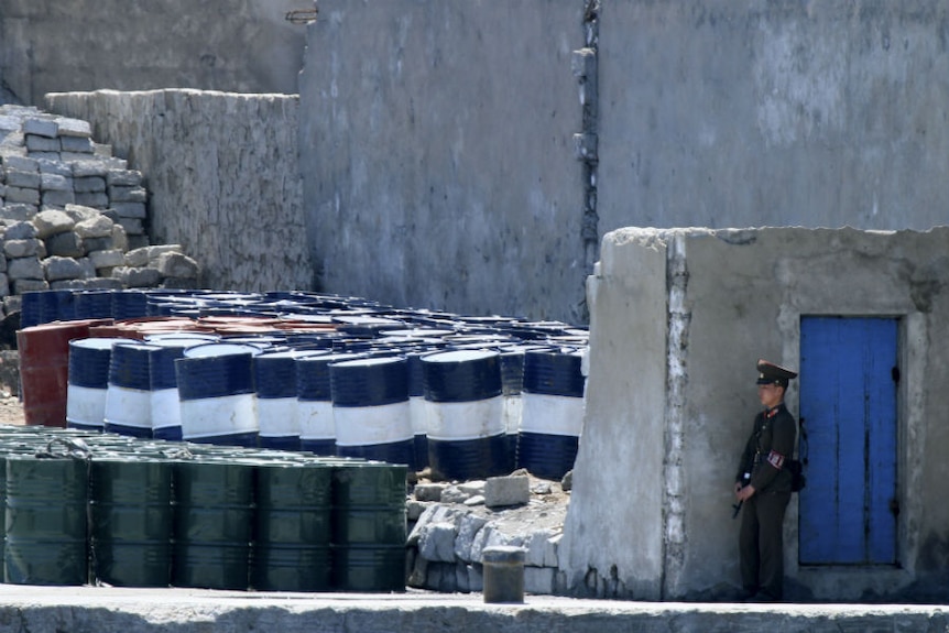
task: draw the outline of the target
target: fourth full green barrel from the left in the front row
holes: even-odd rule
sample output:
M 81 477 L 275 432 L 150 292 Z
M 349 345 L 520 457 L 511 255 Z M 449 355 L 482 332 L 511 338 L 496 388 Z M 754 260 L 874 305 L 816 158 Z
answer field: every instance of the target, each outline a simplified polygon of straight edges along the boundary
M 261 462 L 251 587 L 259 591 L 330 589 L 331 469 L 319 462 Z

